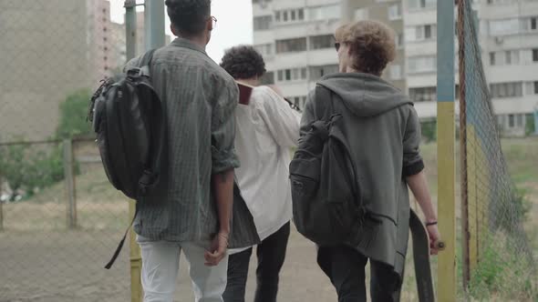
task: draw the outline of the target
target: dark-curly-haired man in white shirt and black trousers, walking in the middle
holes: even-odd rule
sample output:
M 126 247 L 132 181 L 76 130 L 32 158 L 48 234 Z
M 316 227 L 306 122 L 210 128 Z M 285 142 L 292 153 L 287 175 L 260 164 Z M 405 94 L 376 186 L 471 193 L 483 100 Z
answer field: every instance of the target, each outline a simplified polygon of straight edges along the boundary
M 254 302 L 274 302 L 290 234 L 288 166 L 290 149 L 299 138 L 300 116 L 274 88 L 259 86 L 265 73 L 264 58 L 252 46 L 227 50 L 221 66 L 237 82 L 255 86 L 248 102 L 235 110 L 235 150 L 241 161 L 241 167 L 235 169 L 235 181 L 261 240 L 256 247 Z M 252 251 L 253 247 L 230 250 L 224 302 L 244 301 Z

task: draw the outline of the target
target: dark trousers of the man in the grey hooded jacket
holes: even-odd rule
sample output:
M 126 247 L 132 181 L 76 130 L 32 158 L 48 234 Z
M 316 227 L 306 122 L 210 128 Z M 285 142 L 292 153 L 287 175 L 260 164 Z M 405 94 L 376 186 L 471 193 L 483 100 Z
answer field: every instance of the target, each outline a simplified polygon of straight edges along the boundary
M 366 302 L 365 266 L 368 258 L 351 247 L 319 247 L 317 264 L 336 288 L 338 302 Z M 370 259 L 370 295 L 373 302 L 399 301 L 401 282 L 392 269 Z

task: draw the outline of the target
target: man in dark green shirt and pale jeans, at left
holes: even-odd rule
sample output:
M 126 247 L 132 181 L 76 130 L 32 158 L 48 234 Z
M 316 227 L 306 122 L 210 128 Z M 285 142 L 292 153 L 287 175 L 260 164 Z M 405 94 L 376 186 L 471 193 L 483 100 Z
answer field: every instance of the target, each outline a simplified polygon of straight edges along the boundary
M 195 300 L 218 302 L 226 287 L 227 247 L 259 242 L 248 209 L 233 198 L 239 92 L 232 76 L 205 52 L 216 22 L 211 1 L 167 0 L 166 5 L 177 38 L 158 49 L 150 65 L 165 108 L 166 168 L 154 193 L 137 201 L 134 224 L 144 301 L 172 301 L 182 251 Z

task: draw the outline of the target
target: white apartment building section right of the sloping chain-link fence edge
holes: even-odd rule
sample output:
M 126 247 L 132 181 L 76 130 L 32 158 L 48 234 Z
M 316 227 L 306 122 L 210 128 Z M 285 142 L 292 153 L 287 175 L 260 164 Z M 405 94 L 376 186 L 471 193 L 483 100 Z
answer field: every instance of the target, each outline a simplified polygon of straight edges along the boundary
M 522 136 L 538 111 L 538 1 L 484 0 L 477 9 L 498 124 L 504 134 Z

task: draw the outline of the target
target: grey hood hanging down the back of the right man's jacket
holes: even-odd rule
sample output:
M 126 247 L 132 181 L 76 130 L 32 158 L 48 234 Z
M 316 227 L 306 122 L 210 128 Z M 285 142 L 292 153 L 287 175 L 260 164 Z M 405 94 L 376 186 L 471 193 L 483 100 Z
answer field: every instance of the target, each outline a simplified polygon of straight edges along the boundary
M 318 84 L 340 96 L 347 109 L 360 117 L 378 116 L 398 106 L 413 104 L 408 96 L 378 76 L 334 74 L 324 76 Z

